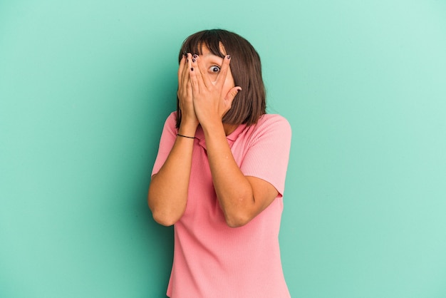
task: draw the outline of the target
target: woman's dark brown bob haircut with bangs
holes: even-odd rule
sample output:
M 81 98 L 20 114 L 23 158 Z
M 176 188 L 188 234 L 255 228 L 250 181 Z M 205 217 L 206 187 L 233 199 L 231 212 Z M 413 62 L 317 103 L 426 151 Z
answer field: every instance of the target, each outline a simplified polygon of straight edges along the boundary
M 201 55 L 202 46 L 209 48 L 215 56 L 224 57 L 220 45 L 227 55 L 231 55 L 231 73 L 235 86 L 242 87 L 232 106 L 224 114 L 223 123 L 247 124 L 257 123 L 259 117 L 266 113 L 266 92 L 261 78 L 261 63 L 259 53 L 251 46 L 251 43 L 242 36 L 233 32 L 212 29 L 199 31 L 192 34 L 182 43 L 178 61 L 185 53 Z M 177 128 L 180 128 L 181 111 L 177 98 Z

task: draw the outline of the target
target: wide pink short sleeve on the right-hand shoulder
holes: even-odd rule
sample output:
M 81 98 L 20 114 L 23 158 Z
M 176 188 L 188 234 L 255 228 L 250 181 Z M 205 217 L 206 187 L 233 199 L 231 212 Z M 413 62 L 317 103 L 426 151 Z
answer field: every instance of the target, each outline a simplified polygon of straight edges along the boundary
M 291 126 L 281 115 L 263 115 L 247 143 L 240 170 L 271 183 L 284 194 L 291 147 Z

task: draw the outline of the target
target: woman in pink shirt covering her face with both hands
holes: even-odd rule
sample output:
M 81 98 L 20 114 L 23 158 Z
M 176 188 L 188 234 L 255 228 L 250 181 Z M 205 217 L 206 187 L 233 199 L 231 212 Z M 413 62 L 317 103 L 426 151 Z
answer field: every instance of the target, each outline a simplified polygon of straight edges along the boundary
M 167 296 L 289 297 L 278 237 L 291 128 L 266 114 L 259 55 L 214 29 L 189 36 L 179 60 L 148 194 L 175 227 Z

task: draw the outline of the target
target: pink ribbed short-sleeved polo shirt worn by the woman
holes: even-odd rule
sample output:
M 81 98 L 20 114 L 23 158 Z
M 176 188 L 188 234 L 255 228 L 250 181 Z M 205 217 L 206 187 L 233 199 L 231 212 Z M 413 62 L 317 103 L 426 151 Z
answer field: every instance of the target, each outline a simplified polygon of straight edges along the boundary
M 175 114 L 166 120 L 152 171 L 157 173 L 177 138 Z M 195 134 L 189 196 L 175 223 L 175 248 L 167 296 L 290 297 L 281 267 L 279 227 L 284 208 L 291 127 L 280 115 L 262 115 L 227 136 L 242 173 L 271 183 L 279 195 L 242 227 L 228 227 L 209 168 L 204 133 Z

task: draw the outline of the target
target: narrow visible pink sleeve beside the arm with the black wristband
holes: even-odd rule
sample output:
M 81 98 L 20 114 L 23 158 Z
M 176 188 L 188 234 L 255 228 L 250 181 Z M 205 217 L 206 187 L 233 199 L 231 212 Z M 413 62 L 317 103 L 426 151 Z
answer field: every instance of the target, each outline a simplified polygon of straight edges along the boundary
M 172 112 L 169 117 L 167 117 L 164 128 L 162 128 L 162 134 L 160 139 L 160 147 L 158 148 L 157 158 L 155 159 L 155 165 L 153 165 L 152 175 L 158 173 L 162 165 L 164 165 L 167 160 L 167 156 L 172 150 L 173 144 L 175 143 L 175 138 L 177 137 L 177 128 L 175 127 L 177 112 Z

